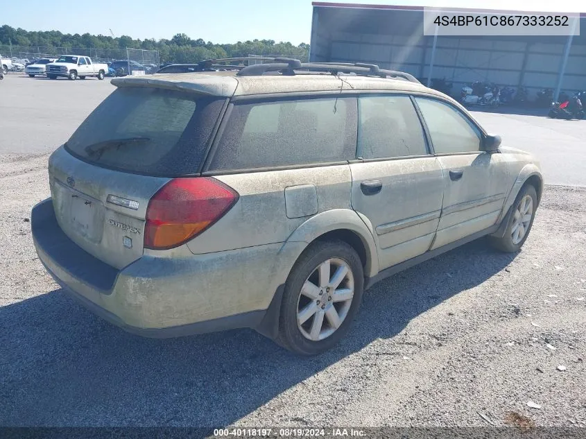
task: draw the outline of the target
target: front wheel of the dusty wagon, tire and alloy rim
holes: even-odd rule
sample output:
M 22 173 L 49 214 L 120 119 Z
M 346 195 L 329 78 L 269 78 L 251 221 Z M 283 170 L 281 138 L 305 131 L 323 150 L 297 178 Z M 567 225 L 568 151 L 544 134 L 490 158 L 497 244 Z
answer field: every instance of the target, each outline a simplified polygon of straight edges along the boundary
M 526 221 L 517 221 L 519 216 L 522 217 L 522 213 L 527 213 L 527 205 L 524 203 L 528 203 L 528 200 L 531 199 L 531 218 L 528 218 Z M 495 238 L 494 236 L 491 237 L 490 242 L 494 248 L 497 250 L 501 250 L 502 252 L 518 252 L 521 250 L 523 244 L 525 243 L 527 237 L 529 236 L 529 232 L 531 232 L 531 227 L 533 226 L 533 220 L 535 219 L 535 211 L 537 210 L 537 192 L 535 191 L 535 187 L 532 184 L 526 184 L 522 187 L 521 191 L 515 198 L 515 203 L 511 206 L 511 215 L 508 219 L 507 228 L 505 230 L 505 234 L 502 238 Z M 522 236 L 517 236 L 517 231 L 519 227 L 522 228 Z

